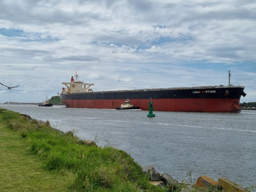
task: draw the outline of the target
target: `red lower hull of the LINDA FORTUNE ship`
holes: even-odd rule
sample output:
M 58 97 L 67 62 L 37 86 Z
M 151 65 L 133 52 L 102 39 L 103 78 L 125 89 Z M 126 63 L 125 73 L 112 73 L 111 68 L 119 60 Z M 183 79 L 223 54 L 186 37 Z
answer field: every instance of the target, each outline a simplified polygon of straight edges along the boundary
M 118 100 L 71 100 L 62 102 L 66 107 L 115 109 L 123 103 Z M 141 110 L 148 110 L 149 99 L 130 99 L 134 106 Z M 155 111 L 183 111 L 183 112 L 237 112 L 241 111 L 240 99 L 152 99 Z

